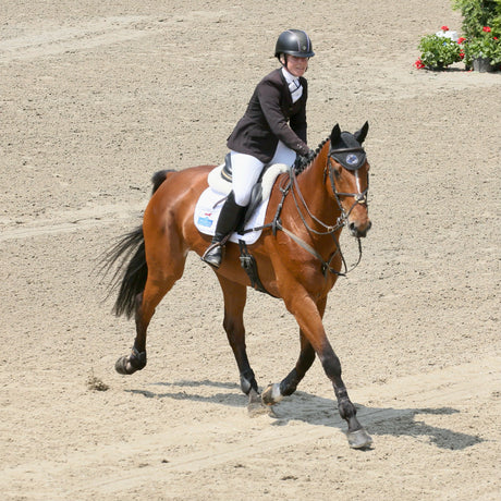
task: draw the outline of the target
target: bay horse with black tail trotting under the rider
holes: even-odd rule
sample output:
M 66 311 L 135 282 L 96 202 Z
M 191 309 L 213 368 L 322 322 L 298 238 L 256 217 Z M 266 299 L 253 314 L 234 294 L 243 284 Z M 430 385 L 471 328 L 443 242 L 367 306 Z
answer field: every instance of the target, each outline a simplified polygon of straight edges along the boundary
M 247 358 L 243 322 L 247 286 L 255 283 L 241 267 L 237 244 L 227 244 L 222 265 L 215 270 L 224 298 L 223 328 L 249 411 L 266 408 L 294 393 L 317 355 L 333 384 L 339 413 L 347 421 L 349 444 L 354 449 L 369 447 L 372 439 L 356 417 L 322 317 L 330 290 L 344 274 L 341 270 L 346 270 L 339 245 L 341 231 L 347 227 L 359 244 L 371 225 L 367 206 L 369 163 L 362 146 L 367 132 L 367 122 L 354 134 L 341 132 L 337 124 L 306 164 L 280 174 L 271 191 L 262 233 L 248 246 L 259 284 L 269 295 L 282 298 L 300 326 L 301 350 L 295 367 L 262 394 Z M 210 244 L 210 236 L 195 227 L 194 209 L 213 168 L 157 172 L 143 224 L 105 258 L 108 267 L 121 261 L 113 279 L 120 288 L 113 310 L 117 316 L 134 315 L 136 323 L 132 352 L 115 364 L 122 375 L 146 366 L 146 331 L 155 308 L 182 277 L 188 252 L 201 256 Z

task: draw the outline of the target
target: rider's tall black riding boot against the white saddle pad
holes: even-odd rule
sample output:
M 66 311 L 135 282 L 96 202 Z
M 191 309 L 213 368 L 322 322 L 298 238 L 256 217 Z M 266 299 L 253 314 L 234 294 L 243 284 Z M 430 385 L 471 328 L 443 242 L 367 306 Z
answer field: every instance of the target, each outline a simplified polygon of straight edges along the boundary
M 203 261 L 213 268 L 219 268 L 221 266 L 223 245 L 231 233 L 235 231 L 245 213 L 245 209 L 246 207 L 236 204 L 233 192 L 230 192 L 227 201 L 224 201 L 221 208 L 218 224 L 216 225 L 216 233 L 212 237 L 212 244 L 205 252 L 204 256 L 201 256 Z

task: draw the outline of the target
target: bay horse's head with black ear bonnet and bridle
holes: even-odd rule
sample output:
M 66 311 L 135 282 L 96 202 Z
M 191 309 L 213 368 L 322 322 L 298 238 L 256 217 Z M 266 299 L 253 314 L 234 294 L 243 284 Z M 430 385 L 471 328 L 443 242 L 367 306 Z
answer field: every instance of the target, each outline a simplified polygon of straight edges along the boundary
M 355 134 L 341 132 L 339 125 L 334 125 L 326 170 L 341 218 L 357 237 L 366 236 L 372 224 L 367 206 L 369 163 L 362 147 L 368 130 L 368 122 Z

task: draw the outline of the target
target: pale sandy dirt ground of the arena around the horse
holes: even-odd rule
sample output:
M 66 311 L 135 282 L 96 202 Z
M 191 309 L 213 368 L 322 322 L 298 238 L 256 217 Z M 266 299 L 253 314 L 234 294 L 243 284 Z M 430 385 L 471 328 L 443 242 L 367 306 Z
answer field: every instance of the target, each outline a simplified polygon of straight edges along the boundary
M 441 0 L 2 0 L 3 499 L 500 499 L 501 73 L 415 70 L 443 24 L 461 30 Z M 111 315 L 99 255 L 140 223 L 155 171 L 222 160 L 288 27 L 317 53 L 310 146 L 370 123 L 374 227 L 325 318 L 367 451 L 318 361 L 274 417 L 247 416 L 196 256 L 148 366 L 113 368 L 134 326 Z M 294 319 L 250 291 L 245 320 L 260 386 L 280 381 Z

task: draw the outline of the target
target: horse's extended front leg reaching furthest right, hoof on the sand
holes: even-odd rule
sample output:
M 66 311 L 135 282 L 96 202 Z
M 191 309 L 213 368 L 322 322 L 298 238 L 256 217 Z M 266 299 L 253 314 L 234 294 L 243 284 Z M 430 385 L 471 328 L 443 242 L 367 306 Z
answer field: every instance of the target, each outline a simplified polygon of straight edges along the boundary
M 297 291 L 297 290 L 296 290 Z M 340 416 L 347 423 L 347 440 L 350 447 L 363 449 L 370 445 L 372 439 L 363 428 L 356 417 L 356 408 L 347 394 L 346 387 L 341 378 L 341 363 L 335 355 L 322 325 L 323 310 L 307 296 L 295 294 L 285 301 L 289 310 L 294 315 L 305 338 L 309 341 L 321 362 L 327 377 L 332 381 L 338 399 Z

